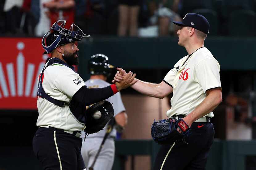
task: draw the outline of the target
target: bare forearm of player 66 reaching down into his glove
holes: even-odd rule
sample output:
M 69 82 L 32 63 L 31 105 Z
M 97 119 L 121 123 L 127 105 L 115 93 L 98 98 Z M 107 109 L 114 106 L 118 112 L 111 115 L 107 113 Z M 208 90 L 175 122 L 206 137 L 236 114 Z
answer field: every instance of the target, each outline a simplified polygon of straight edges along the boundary
M 204 117 L 212 112 L 222 101 L 221 91 L 213 95 L 208 95 L 200 105 L 198 105 L 191 113 L 188 114 L 189 120 L 192 122 Z

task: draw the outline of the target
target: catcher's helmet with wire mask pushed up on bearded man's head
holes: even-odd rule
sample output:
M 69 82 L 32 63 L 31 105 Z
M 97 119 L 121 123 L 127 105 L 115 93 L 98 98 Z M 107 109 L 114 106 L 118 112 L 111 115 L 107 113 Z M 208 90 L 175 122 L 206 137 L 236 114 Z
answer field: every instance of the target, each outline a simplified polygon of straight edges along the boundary
M 64 28 L 65 24 L 66 20 L 59 20 L 52 25 L 50 31 L 44 34 L 42 45 L 45 52 L 43 54 L 52 53 L 58 46 L 81 41 L 83 37 L 90 37 L 90 35 L 84 34 L 81 28 L 74 23 L 71 24 L 69 30 Z

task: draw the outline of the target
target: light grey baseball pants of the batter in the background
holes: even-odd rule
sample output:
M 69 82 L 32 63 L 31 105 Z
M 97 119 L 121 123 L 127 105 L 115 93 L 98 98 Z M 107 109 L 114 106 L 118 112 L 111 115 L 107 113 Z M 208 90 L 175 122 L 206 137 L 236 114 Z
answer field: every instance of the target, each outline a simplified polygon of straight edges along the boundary
M 93 160 L 100 148 L 103 137 L 87 137 L 82 143 L 81 154 L 86 167 L 91 167 Z M 93 166 L 94 170 L 111 170 L 114 163 L 115 142 L 108 138 L 101 148 L 101 152 Z

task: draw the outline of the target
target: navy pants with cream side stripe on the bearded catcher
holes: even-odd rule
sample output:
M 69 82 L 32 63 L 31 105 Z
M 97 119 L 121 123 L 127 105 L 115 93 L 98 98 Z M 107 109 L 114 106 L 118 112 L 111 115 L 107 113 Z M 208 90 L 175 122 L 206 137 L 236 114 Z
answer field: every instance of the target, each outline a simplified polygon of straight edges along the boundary
M 53 128 L 39 128 L 33 150 L 43 170 L 85 170 L 82 139 Z

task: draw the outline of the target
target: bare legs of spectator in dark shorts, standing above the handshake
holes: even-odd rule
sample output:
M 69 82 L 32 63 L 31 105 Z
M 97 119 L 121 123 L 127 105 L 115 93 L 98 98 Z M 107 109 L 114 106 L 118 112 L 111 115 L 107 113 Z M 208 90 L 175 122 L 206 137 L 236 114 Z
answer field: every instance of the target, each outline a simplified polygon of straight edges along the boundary
M 140 0 L 119 0 L 119 36 L 125 36 L 127 31 L 130 36 L 138 35 L 139 5 Z

